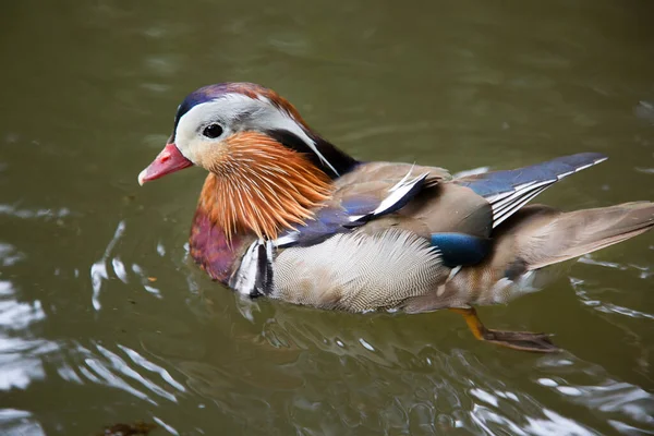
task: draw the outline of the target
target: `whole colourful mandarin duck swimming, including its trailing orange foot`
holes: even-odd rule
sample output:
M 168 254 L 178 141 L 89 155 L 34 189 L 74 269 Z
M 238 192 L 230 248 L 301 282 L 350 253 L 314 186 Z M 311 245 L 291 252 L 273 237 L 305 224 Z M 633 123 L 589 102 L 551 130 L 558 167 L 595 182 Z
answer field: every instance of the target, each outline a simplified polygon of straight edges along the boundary
M 276 92 L 220 83 L 184 98 L 138 183 L 208 171 L 190 256 L 244 298 L 353 313 L 449 310 L 476 339 L 548 353 L 560 351 L 550 335 L 487 328 L 475 307 L 542 290 L 567 261 L 654 227 L 646 201 L 572 211 L 530 203 L 606 159 L 580 153 L 462 175 L 364 161 Z

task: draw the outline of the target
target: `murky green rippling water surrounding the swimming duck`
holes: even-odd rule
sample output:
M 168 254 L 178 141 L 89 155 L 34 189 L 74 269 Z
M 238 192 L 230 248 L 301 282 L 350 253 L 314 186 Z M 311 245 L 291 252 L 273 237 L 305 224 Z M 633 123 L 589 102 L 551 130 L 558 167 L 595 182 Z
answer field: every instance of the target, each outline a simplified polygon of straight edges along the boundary
M 480 311 L 555 334 L 567 352 L 542 356 L 451 313 L 241 301 L 186 258 L 204 173 L 136 184 L 187 92 L 253 81 L 363 159 L 459 171 L 595 150 L 609 161 L 542 199 L 654 199 L 653 3 L 0 9 L 0 433 L 654 432 L 653 233 Z

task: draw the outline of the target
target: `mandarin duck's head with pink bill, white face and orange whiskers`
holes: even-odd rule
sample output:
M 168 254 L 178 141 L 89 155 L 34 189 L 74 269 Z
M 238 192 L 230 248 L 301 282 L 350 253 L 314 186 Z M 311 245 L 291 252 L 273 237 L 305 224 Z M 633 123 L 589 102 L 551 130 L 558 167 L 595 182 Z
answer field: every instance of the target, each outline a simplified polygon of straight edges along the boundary
M 198 166 L 209 171 L 198 209 L 228 238 L 276 238 L 327 199 L 331 180 L 356 161 L 313 132 L 275 92 L 222 83 L 191 93 L 178 107 L 168 144 L 138 183 Z

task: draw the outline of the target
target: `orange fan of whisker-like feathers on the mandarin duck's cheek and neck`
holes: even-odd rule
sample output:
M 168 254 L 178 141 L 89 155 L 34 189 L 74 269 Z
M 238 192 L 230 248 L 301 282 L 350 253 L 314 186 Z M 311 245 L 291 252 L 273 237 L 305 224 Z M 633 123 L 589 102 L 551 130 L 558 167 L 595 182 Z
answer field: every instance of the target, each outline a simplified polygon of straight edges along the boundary
M 275 239 L 281 230 L 313 218 L 312 209 L 331 195 L 327 174 L 266 134 L 234 134 L 219 153 L 197 209 L 222 231 L 227 243 L 237 234 Z

